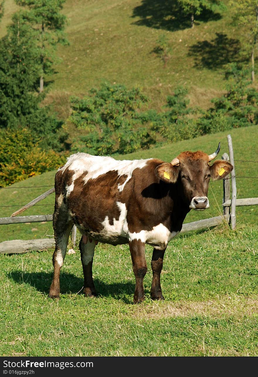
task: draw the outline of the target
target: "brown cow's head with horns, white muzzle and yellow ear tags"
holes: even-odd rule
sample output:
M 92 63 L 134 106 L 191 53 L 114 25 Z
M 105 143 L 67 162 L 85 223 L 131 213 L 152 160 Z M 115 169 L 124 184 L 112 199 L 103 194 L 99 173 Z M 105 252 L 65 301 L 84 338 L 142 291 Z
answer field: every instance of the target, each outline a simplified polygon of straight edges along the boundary
M 181 152 L 170 164 L 164 162 L 155 172 L 167 183 L 177 183 L 183 201 L 190 209 L 204 210 L 209 208 L 207 198 L 210 178 L 213 181 L 225 178 L 233 169 L 226 160 L 217 160 L 209 164 L 220 151 L 220 143 L 216 152 L 207 155 L 204 152 Z

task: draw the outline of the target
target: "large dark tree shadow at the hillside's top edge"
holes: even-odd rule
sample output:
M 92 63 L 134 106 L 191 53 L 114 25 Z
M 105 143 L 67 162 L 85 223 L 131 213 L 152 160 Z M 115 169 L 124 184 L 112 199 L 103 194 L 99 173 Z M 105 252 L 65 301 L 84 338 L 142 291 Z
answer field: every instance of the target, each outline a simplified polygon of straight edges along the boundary
M 168 31 L 182 30 L 191 27 L 190 14 L 186 14 L 178 5 L 177 0 L 143 0 L 141 5 L 133 10 L 132 18 L 139 17 L 133 25 L 147 26 L 154 29 Z M 221 15 L 203 9 L 199 16 L 196 16 L 195 23 L 199 21 L 208 22 L 219 20 Z

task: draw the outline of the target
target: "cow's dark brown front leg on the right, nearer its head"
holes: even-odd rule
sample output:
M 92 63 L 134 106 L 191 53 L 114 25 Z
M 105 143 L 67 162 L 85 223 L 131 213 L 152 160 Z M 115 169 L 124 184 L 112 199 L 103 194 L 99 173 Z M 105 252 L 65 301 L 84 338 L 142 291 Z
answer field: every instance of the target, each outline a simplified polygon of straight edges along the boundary
M 152 268 L 152 285 L 150 290 L 150 297 L 152 300 L 163 300 L 161 286 L 160 286 L 160 273 L 163 267 L 163 258 L 165 250 L 153 249 L 151 268 Z

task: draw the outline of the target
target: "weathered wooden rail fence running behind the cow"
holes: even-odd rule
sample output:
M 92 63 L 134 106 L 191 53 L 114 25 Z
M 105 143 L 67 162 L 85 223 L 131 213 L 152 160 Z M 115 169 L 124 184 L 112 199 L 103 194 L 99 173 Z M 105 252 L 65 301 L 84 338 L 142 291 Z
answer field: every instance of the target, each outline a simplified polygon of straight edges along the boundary
M 191 230 L 199 230 L 203 228 L 209 228 L 221 224 L 221 222 L 229 222 L 232 229 L 236 228 L 236 207 L 243 205 L 258 205 L 258 198 L 244 198 L 236 199 L 236 176 L 235 176 L 235 164 L 233 156 L 233 146 L 232 139 L 230 135 L 227 135 L 229 156 L 224 153 L 222 158 L 230 161 L 233 165 L 233 170 L 231 172 L 231 188 L 232 195 L 230 199 L 230 179 L 223 179 L 223 215 L 212 217 L 209 219 L 203 219 L 199 221 L 189 222 L 183 224 L 181 233 L 188 232 Z M 35 215 L 35 216 L 17 216 L 26 209 L 32 207 L 32 205 L 38 203 L 42 199 L 45 199 L 48 195 L 55 191 L 54 187 L 45 193 L 41 194 L 37 198 L 33 199 L 28 204 L 21 207 L 19 210 L 12 213 L 11 217 L 0 218 L 0 225 L 2 224 L 17 224 L 24 222 L 41 222 L 41 221 L 52 221 L 52 215 Z M 230 211 L 231 207 L 231 211 Z M 17 216 L 17 217 L 16 217 Z M 72 244 L 75 247 L 76 243 L 76 226 L 72 228 L 71 232 Z M 0 243 L 0 254 L 10 254 L 10 253 L 26 253 L 30 250 L 47 250 L 54 245 L 54 239 L 38 239 L 38 240 L 15 240 L 15 241 L 4 241 Z

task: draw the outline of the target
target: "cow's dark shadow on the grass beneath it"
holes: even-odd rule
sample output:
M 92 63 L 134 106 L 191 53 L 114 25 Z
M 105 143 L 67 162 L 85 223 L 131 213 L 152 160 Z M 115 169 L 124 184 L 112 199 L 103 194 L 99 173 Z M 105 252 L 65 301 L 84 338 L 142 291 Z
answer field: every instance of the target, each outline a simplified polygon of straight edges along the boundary
M 46 272 L 23 272 L 11 271 L 7 274 L 17 284 L 29 284 L 37 291 L 48 295 L 52 282 L 52 273 Z M 122 280 L 122 278 L 121 278 Z M 125 303 L 131 303 L 127 295 L 133 296 L 135 284 L 132 282 L 111 283 L 107 284 L 100 279 L 94 279 L 96 291 L 99 296 L 113 297 L 116 300 L 122 300 Z M 83 294 L 83 277 L 77 277 L 69 273 L 60 273 L 60 293 L 61 294 Z

